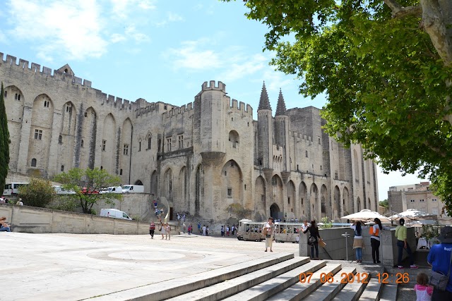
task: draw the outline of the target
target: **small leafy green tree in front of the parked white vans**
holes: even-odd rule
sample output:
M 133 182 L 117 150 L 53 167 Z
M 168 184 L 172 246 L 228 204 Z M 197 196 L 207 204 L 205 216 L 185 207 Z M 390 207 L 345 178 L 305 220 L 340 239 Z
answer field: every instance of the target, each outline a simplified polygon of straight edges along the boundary
M 65 190 L 76 192 L 75 195 L 66 195 L 66 197 L 78 199 L 83 213 L 91 213 L 93 205 L 100 200 L 108 204 L 112 203 L 112 199 L 122 199 L 121 194 L 99 193 L 102 188 L 119 185 L 121 179 L 97 167 L 94 169 L 72 168 L 67 173 L 59 173 L 54 181 L 62 183 Z

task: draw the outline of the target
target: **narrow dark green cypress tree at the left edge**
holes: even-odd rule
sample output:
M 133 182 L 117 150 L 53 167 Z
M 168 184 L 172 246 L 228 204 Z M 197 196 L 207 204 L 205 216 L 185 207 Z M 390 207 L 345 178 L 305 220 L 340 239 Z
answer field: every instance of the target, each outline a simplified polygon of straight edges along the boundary
M 0 92 L 0 188 L 5 187 L 5 179 L 8 176 L 9 164 L 9 131 L 8 119 L 6 118 L 3 82 Z

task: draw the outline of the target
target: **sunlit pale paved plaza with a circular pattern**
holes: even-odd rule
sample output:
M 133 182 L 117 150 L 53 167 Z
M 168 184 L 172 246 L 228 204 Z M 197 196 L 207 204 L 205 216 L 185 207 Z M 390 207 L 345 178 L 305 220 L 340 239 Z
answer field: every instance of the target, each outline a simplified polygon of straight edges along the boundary
M 281 254 L 298 245 L 237 238 L 174 235 L 88 235 L 0 233 L 0 300 L 126 300 L 152 293 L 159 283 Z M 163 285 L 163 284 L 162 284 Z

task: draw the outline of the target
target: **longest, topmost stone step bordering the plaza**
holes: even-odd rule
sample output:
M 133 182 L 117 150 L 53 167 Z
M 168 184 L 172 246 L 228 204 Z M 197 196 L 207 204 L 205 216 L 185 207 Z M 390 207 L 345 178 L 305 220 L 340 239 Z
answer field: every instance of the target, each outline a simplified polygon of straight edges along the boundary
M 290 253 L 273 253 L 266 257 L 250 260 L 249 262 L 242 262 L 239 264 L 232 264 L 219 269 L 213 269 L 203 273 L 190 276 L 186 281 L 181 281 L 180 278 L 170 279 L 159 283 L 143 285 L 139 288 L 132 288 L 130 290 L 121 290 L 116 293 L 102 295 L 97 297 L 97 301 L 111 301 L 111 300 L 165 300 L 171 297 L 176 297 L 194 290 L 200 290 L 210 285 L 227 281 L 245 274 L 249 274 L 259 269 L 264 269 L 273 264 L 285 262 L 286 260 L 294 258 L 294 254 Z

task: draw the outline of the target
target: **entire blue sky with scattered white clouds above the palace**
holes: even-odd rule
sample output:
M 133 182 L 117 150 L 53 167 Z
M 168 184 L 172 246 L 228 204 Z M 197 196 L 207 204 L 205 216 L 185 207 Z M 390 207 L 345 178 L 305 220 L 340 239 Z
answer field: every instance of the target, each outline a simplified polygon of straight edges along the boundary
M 281 89 L 287 109 L 326 104 L 305 99 L 300 80 L 269 66 L 266 26 L 244 16 L 242 1 L 6 0 L 0 6 L 0 52 L 58 69 L 107 94 L 181 106 L 205 81 L 220 80 L 230 97 L 258 107 L 265 80 L 273 111 Z M 379 198 L 416 176 L 379 172 Z

